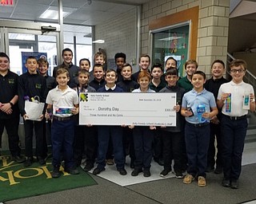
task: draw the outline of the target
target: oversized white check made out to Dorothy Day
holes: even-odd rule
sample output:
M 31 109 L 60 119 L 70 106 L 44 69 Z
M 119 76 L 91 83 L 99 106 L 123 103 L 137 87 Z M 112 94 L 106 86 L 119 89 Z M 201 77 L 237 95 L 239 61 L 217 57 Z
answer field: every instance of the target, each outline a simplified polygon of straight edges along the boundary
M 79 124 L 176 126 L 176 93 L 86 92 Z

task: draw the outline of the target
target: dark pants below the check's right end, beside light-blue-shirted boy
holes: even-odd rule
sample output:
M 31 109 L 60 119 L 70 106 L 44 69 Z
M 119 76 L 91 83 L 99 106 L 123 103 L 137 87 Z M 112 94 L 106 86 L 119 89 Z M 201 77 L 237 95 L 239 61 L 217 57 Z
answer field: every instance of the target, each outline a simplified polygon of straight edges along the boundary
M 182 171 L 182 133 L 162 131 L 164 168 L 171 170 L 174 159 L 174 171 Z

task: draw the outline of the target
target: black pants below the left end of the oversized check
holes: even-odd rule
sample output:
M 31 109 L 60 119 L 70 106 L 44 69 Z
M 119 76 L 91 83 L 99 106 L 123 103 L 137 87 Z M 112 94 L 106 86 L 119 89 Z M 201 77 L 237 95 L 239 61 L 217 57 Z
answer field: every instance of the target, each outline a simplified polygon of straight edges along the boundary
M 86 152 L 86 163 L 94 164 L 97 157 L 98 137 L 95 126 L 77 125 L 74 130 L 74 160 L 77 165 L 82 162 L 82 153 Z

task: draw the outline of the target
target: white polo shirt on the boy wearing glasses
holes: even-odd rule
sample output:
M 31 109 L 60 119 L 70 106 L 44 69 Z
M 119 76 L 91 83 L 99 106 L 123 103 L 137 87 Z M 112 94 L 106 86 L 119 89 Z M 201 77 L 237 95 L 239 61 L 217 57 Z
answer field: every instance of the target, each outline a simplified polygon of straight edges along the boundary
M 243 100 L 246 94 L 253 93 L 254 88 L 251 84 L 246 84 L 242 81 L 240 84 L 235 84 L 233 80 L 228 83 L 222 84 L 218 89 L 218 100 L 221 100 L 222 93 L 231 93 L 231 111 L 226 112 L 225 103 L 222 107 L 222 113 L 226 116 L 245 116 L 248 114 L 248 110 L 242 109 Z

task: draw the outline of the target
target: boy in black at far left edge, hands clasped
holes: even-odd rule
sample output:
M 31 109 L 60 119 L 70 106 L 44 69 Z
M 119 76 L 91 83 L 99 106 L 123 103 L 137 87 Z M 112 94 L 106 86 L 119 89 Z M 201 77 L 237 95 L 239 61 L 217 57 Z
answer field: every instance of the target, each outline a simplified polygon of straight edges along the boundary
M 26 159 L 20 155 L 18 124 L 18 75 L 10 71 L 10 58 L 6 53 L 0 53 L 0 147 L 2 133 L 6 128 L 12 159 L 23 163 Z

